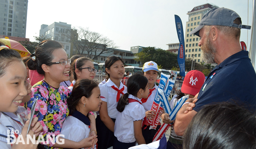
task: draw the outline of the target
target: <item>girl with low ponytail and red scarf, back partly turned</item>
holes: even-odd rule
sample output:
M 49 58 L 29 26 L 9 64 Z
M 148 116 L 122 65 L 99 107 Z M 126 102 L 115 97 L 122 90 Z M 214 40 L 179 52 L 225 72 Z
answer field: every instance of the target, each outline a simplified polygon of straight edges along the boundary
M 142 98 L 149 96 L 149 82 L 142 74 L 135 74 L 128 79 L 127 93 L 119 99 L 116 109 L 114 127 L 113 149 L 128 149 L 138 144 L 145 144 L 142 135 L 142 119 L 145 117 L 145 109 L 142 106 Z

